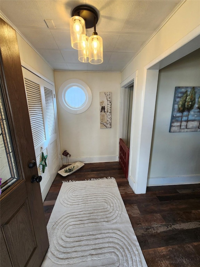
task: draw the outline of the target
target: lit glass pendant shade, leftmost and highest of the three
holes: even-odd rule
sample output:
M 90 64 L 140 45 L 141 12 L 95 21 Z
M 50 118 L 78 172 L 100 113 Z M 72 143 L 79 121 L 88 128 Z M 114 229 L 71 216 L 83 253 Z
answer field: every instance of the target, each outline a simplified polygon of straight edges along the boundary
M 74 49 L 82 49 L 81 44 L 85 40 L 85 21 L 79 16 L 73 16 L 69 20 L 71 44 Z

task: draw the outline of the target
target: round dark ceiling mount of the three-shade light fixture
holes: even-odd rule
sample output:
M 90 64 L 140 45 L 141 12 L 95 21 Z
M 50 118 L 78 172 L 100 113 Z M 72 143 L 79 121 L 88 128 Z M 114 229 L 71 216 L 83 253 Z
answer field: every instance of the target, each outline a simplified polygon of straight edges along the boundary
M 98 13 L 97 11 L 87 5 L 80 5 L 73 9 L 72 11 L 72 17 L 73 16 L 79 16 L 84 19 L 85 21 L 85 28 L 93 28 L 94 25 L 98 22 Z

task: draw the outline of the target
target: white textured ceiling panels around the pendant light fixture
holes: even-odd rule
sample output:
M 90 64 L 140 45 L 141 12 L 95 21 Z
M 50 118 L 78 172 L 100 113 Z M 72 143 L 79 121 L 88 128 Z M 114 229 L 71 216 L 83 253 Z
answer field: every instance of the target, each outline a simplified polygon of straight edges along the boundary
M 54 70 L 122 71 L 182 0 L 1 0 L 0 10 Z M 88 4 L 99 14 L 96 31 L 103 39 L 103 63 L 78 61 L 71 47 L 73 8 Z M 45 19 L 53 20 L 50 29 Z M 87 29 L 88 36 L 93 28 Z

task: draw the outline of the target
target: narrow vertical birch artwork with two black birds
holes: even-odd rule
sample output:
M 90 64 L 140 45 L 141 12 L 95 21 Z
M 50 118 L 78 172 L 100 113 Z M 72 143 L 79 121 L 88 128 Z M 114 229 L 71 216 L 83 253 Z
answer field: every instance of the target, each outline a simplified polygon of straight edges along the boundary
M 112 92 L 100 92 L 100 128 L 111 128 Z

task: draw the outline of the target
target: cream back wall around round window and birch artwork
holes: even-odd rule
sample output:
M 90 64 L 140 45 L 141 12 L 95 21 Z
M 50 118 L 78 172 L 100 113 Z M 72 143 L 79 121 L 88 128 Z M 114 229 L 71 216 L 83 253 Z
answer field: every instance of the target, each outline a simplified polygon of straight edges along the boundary
M 69 79 L 85 82 L 92 91 L 92 103 L 81 114 L 68 113 L 58 101 L 60 86 Z M 118 160 L 120 73 L 55 72 L 61 151 L 69 162 L 108 162 Z M 112 92 L 112 128 L 100 129 L 99 92 Z M 66 164 L 66 157 L 63 157 Z

